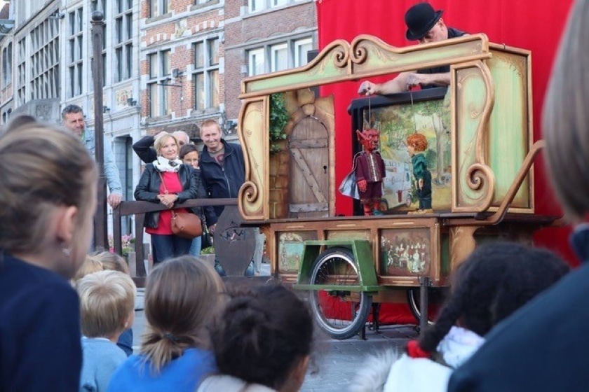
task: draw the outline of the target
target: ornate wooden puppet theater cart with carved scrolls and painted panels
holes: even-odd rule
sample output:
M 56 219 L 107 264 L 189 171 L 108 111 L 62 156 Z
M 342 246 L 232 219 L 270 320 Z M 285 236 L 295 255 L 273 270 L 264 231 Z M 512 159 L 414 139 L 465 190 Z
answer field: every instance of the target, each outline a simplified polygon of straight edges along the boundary
M 309 290 L 316 320 L 333 337 L 359 332 L 373 302 L 401 302 L 407 295 L 424 324 L 428 289 L 446 286 L 449 272 L 476 244 L 499 237 L 529 240 L 552 222 L 534 214 L 530 169 L 543 144 L 532 142 L 530 57 L 528 50 L 489 43 L 484 34 L 406 48 L 360 35 L 349 43 L 333 41 L 306 66 L 243 81 L 238 135 L 246 181 L 239 211 L 265 232 L 273 273 Z M 436 89 L 433 98 L 425 91 L 382 97 L 391 101 L 379 104 L 375 115 L 384 197 L 393 214 L 336 216 L 333 101 L 316 97 L 310 87 L 348 82 L 354 89 L 356 80 L 443 64 L 451 64 L 447 89 Z M 270 153 L 269 97 L 278 93 L 285 94 L 291 118 L 285 129 L 288 159 L 277 162 Z M 412 142 L 403 132 L 415 130 L 395 129 L 401 112 L 414 109 L 409 99 L 424 107 L 435 100 L 441 109 L 428 116 L 445 122 L 444 132 L 436 133 L 425 109 L 412 113 L 427 141 L 420 153 L 433 183 L 431 206 L 425 193 L 419 199 L 421 214 L 395 211 L 405 193 L 393 183 L 399 173 L 407 179 L 412 172 Z M 278 184 L 286 188 L 281 193 L 276 173 L 288 179 Z M 418 190 L 426 182 L 417 178 Z

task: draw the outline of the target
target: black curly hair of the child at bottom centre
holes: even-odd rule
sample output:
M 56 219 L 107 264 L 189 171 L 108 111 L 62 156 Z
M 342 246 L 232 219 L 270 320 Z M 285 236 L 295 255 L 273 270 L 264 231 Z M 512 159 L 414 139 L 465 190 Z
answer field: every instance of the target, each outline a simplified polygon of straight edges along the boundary
M 291 290 L 259 286 L 233 294 L 210 336 L 222 374 L 280 390 L 311 353 L 313 318 Z

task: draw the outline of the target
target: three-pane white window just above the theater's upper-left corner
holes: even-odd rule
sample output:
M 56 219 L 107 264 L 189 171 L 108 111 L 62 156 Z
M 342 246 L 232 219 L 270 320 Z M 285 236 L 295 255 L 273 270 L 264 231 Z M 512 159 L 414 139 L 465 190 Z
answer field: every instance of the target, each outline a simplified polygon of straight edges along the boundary
M 248 75 L 284 71 L 307 63 L 307 52 L 313 49 L 313 38 L 304 37 L 252 48 L 248 52 Z M 269 57 L 270 61 L 266 61 Z

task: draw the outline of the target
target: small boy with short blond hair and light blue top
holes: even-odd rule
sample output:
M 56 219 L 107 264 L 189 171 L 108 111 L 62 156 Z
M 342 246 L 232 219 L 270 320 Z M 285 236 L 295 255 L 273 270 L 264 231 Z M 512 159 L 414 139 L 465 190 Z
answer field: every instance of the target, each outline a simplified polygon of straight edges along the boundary
M 126 353 L 116 346 L 135 318 L 135 283 L 119 271 L 99 271 L 76 283 L 80 296 L 82 374 L 80 391 L 107 391 Z

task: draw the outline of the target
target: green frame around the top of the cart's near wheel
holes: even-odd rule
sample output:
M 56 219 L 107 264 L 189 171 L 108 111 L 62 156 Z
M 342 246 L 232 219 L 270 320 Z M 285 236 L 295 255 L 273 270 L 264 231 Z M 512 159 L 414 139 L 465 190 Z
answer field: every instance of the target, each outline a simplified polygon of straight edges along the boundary
M 358 267 L 358 286 L 339 286 L 339 285 L 316 285 L 311 283 L 311 274 L 313 265 L 319 254 L 328 248 L 345 247 L 352 251 L 354 255 L 353 262 Z M 383 290 L 377 280 L 377 272 L 374 269 L 374 260 L 372 259 L 372 246 L 365 239 L 327 239 L 327 240 L 309 240 L 304 241 L 303 258 L 297 283 L 292 285 L 297 290 L 342 290 L 346 291 L 367 291 L 376 293 Z

